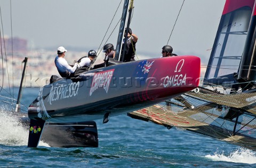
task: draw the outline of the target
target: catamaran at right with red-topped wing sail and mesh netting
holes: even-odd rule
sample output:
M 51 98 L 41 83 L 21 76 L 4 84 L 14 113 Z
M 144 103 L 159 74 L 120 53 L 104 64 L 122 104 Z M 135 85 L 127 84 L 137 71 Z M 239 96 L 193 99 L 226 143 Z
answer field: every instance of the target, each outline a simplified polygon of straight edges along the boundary
M 128 115 L 256 150 L 255 7 L 226 0 L 201 86 Z

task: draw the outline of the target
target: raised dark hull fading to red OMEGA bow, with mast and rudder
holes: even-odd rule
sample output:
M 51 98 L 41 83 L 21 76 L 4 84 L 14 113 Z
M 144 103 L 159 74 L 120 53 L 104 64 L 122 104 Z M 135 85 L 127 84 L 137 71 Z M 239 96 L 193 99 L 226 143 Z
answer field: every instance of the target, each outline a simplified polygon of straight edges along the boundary
M 146 108 L 189 92 L 199 84 L 200 59 L 191 55 L 122 62 L 133 1 L 125 0 L 115 60 L 85 71 L 88 78 L 58 78 L 43 86 L 28 108 L 28 147 L 37 147 L 47 123 L 103 119 Z M 129 17 L 128 17 L 129 16 Z M 125 26 L 126 25 L 126 26 Z M 124 39 L 125 38 L 125 39 Z

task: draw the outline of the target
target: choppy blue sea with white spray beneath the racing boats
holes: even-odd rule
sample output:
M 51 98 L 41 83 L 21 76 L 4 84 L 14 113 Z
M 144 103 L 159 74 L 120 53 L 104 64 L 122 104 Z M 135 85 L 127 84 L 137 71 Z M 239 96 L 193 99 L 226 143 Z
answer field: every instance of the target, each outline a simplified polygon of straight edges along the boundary
M 22 105 L 38 92 L 25 88 Z M 28 148 L 28 129 L 11 107 L 1 106 L 0 167 L 256 167 L 255 151 L 126 115 L 95 121 L 99 148 L 53 148 L 42 141 Z

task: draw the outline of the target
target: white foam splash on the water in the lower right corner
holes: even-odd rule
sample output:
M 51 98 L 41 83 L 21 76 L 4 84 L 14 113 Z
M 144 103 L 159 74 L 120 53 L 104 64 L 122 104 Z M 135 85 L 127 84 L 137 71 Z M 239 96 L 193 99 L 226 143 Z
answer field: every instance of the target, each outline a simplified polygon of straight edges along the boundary
M 225 161 L 234 163 L 246 163 L 255 164 L 256 163 L 256 153 L 253 150 L 240 148 L 230 154 L 221 154 L 217 151 L 214 155 L 206 155 L 205 157 L 211 158 L 214 161 Z

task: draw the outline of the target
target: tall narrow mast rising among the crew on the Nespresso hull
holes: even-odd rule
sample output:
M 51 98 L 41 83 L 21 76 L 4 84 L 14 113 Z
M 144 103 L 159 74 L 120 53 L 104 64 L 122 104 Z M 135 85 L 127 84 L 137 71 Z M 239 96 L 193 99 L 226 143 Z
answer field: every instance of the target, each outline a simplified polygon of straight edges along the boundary
M 130 9 L 129 9 L 129 4 L 130 4 Z M 118 33 L 118 38 L 117 38 L 117 44 L 116 44 L 116 54 L 115 54 L 115 58 L 114 58 L 117 61 L 120 61 L 120 59 L 121 59 L 120 57 L 121 57 L 122 44 L 123 44 L 123 39 L 124 39 L 125 25 L 127 22 L 127 29 L 129 29 L 129 25 L 130 25 L 130 21 L 131 21 L 132 7 L 133 7 L 133 0 L 125 0 L 124 1 L 123 13 L 122 13 L 122 18 L 121 18 L 121 23 L 120 23 L 119 33 Z M 127 18 L 128 10 L 129 10 L 129 18 Z M 127 33 L 128 33 L 128 31 L 126 31 L 125 41 L 127 39 Z M 125 52 L 125 47 L 123 50 L 123 55 L 124 55 L 124 52 Z

